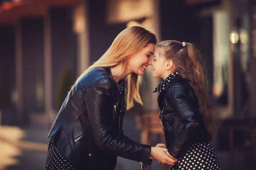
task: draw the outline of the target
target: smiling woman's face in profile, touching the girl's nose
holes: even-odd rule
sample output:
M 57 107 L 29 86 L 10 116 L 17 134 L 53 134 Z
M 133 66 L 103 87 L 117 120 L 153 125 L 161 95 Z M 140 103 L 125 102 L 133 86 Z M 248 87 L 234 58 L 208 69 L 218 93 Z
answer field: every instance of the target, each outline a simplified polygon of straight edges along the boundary
M 128 69 L 131 73 L 138 74 L 142 76 L 144 71 L 151 65 L 151 56 L 154 54 L 155 45 L 150 43 L 143 47 L 140 51 L 135 54 L 132 54 L 128 57 Z

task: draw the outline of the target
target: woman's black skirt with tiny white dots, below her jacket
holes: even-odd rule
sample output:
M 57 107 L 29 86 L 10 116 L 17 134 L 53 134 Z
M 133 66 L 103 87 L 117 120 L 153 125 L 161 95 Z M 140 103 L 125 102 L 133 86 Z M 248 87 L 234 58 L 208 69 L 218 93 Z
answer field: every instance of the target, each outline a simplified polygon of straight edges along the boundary
M 48 153 L 44 164 L 45 170 L 74 170 L 73 164 L 54 146 L 53 139 L 48 144 Z

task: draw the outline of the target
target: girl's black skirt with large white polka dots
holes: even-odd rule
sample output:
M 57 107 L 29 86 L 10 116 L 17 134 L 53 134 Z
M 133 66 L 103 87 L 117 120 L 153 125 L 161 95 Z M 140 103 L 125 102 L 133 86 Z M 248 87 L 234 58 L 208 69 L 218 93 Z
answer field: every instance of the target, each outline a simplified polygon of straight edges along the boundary
M 221 170 L 209 143 L 192 144 L 188 152 L 169 170 Z

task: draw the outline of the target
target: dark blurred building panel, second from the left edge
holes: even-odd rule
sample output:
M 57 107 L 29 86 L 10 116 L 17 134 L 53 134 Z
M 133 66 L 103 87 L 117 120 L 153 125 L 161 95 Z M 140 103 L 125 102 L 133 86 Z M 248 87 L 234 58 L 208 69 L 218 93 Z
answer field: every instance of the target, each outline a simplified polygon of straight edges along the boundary
M 43 108 L 44 22 L 42 17 L 22 18 L 16 26 L 17 119 L 30 123 L 30 115 Z

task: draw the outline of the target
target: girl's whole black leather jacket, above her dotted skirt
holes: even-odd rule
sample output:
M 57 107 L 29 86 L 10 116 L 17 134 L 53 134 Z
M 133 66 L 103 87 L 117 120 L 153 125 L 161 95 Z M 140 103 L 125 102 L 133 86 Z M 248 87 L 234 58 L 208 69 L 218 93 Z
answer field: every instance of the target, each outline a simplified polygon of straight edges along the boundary
M 166 148 L 180 159 L 192 144 L 209 142 L 193 88 L 180 75 L 169 82 L 158 96 L 159 117 Z

